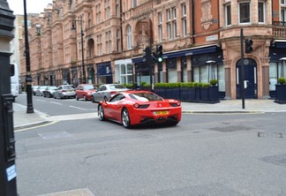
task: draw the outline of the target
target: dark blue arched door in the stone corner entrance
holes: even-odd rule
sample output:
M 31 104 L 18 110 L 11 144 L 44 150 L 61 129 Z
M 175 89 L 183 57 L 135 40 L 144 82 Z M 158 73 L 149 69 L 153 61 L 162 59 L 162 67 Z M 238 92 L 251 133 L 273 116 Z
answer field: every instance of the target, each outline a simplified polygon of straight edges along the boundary
M 241 79 L 241 61 L 237 62 L 237 99 L 242 98 L 242 82 L 245 83 L 245 99 L 257 99 L 256 62 L 252 58 L 245 58 L 245 79 Z

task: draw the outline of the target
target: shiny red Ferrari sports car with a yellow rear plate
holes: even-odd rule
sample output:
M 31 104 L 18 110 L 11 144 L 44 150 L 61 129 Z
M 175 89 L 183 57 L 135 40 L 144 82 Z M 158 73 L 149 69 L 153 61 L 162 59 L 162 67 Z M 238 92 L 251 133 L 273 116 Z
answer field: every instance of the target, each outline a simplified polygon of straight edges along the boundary
M 149 91 L 132 90 L 99 102 L 98 117 L 116 121 L 125 128 L 152 123 L 176 125 L 182 118 L 182 106 L 177 100 L 163 99 Z

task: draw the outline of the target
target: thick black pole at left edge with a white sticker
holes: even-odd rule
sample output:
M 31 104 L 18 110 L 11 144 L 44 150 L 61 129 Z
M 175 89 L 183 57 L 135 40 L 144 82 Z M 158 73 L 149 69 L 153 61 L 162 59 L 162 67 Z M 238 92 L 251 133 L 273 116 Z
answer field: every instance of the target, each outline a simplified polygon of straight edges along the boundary
M 11 94 L 10 41 L 15 16 L 6 0 L 0 0 L 0 195 L 17 196 L 16 151 Z

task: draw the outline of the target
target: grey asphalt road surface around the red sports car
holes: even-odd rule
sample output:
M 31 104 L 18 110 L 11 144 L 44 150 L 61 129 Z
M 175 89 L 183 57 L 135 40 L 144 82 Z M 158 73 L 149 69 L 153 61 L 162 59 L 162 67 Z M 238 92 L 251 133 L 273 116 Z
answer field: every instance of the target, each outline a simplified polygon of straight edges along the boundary
M 94 115 L 96 105 L 34 97 L 35 109 L 55 117 Z M 184 114 L 175 127 L 128 130 L 96 115 L 65 118 L 15 132 L 18 192 L 286 195 L 284 119 L 284 113 Z

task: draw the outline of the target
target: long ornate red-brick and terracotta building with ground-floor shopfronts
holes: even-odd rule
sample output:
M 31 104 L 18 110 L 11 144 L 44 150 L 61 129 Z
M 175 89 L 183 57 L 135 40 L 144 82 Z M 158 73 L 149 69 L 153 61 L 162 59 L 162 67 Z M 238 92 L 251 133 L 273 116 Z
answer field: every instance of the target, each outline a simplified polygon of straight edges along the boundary
M 245 98 L 269 98 L 286 76 L 285 20 L 284 0 L 54 0 L 29 29 L 34 85 L 148 83 L 144 49 L 162 45 L 154 82 L 218 79 L 226 99 L 244 82 Z

